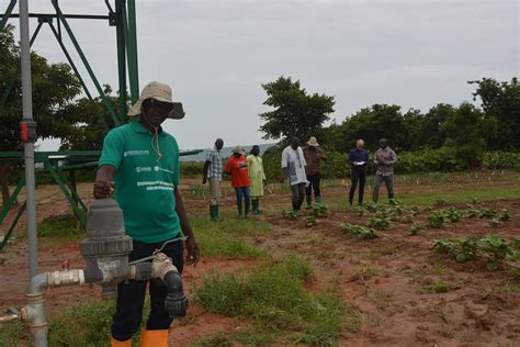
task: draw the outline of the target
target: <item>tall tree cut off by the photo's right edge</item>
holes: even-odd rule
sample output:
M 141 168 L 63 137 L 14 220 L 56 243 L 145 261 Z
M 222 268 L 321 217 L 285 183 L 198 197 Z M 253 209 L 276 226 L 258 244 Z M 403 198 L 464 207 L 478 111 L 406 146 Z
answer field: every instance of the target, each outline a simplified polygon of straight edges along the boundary
M 520 83 L 518 78 L 511 82 L 498 82 L 493 78 L 477 81 L 474 100 L 481 98 L 487 119 L 495 119 L 500 130 L 495 136 L 488 136 L 490 149 L 520 149 Z

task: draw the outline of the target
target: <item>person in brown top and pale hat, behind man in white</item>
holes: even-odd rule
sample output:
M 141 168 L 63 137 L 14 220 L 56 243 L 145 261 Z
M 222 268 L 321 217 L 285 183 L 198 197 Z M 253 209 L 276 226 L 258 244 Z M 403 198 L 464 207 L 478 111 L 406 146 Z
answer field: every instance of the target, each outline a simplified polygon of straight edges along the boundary
M 307 161 L 305 175 L 309 182 L 305 189 L 305 197 L 307 199 L 307 209 L 310 209 L 310 204 L 313 203 L 313 190 L 316 203 L 321 203 L 321 190 L 319 188 L 321 175 L 319 172 L 319 167 L 321 161 L 327 160 L 327 155 L 325 154 L 325 150 L 319 147 L 318 141 L 314 136 L 307 141 L 307 146 L 303 147 L 303 153 L 305 161 Z

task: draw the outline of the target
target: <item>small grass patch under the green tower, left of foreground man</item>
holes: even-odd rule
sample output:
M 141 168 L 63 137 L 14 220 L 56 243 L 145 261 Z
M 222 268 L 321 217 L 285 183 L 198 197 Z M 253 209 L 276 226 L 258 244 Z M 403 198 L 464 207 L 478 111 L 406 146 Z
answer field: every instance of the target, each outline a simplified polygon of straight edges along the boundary
M 67 240 L 81 239 L 87 233 L 78 226 L 72 214 L 59 214 L 48 216 L 38 226 L 38 236 L 48 238 L 61 238 Z

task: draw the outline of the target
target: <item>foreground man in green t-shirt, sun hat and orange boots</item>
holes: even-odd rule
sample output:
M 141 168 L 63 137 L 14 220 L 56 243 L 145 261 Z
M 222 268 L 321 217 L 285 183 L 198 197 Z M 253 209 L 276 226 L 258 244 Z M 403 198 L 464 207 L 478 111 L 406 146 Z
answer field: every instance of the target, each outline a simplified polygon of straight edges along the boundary
M 150 82 L 131 108 L 133 120 L 111 130 L 103 143 L 93 186 L 95 199 L 113 198 L 124 215 L 126 234 L 133 238 L 129 261 L 147 256 L 165 242 L 182 234 L 186 264 L 199 262 L 195 242 L 179 192 L 179 146 L 176 138 L 161 128 L 167 119 L 182 119 L 182 104 L 173 102 L 169 86 Z M 182 272 L 182 242 L 162 248 Z M 165 307 L 167 288 L 157 280 L 127 280 L 117 284 L 116 310 L 112 320 L 112 346 L 132 346 L 132 336 L 139 329 L 146 287 L 149 282 L 150 313 L 142 332 L 142 346 L 167 346 L 172 322 Z

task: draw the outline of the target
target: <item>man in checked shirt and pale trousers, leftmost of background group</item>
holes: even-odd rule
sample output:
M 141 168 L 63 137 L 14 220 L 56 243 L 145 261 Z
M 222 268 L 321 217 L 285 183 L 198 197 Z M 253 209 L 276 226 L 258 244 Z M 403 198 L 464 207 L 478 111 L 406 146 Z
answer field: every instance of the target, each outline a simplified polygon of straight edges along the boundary
M 215 146 L 206 155 L 204 163 L 204 178 L 202 184 L 210 180 L 210 216 L 213 222 L 219 221 L 218 209 L 221 205 L 221 184 L 222 184 L 222 156 L 221 150 L 224 146 L 224 141 L 217 138 Z

